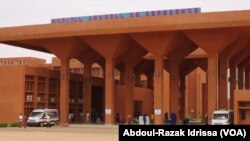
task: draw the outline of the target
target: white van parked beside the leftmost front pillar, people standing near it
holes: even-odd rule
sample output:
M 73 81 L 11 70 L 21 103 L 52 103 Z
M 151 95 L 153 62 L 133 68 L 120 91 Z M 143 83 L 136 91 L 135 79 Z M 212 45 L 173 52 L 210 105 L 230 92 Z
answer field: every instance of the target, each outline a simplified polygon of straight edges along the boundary
M 27 124 L 29 126 L 44 126 L 46 125 L 46 116 L 50 116 L 50 124 L 59 124 L 59 114 L 57 109 L 35 109 L 31 112 Z

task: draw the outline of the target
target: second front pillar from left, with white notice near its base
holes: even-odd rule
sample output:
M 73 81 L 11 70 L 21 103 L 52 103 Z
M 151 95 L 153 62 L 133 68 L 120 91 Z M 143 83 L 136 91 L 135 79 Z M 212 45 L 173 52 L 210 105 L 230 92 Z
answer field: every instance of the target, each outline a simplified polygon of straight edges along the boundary
M 114 60 L 105 60 L 105 124 L 113 124 L 114 121 Z

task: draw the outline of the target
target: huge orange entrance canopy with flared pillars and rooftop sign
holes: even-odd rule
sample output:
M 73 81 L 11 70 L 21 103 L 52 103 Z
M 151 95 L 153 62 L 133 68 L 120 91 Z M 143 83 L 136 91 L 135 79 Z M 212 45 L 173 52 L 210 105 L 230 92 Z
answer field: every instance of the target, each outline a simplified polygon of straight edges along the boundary
M 63 18 L 54 19 L 52 24 L 1 28 L 0 42 L 52 53 L 61 60 L 61 124 L 68 123 L 70 77 L 67 76 L 71 59 L 84 64 L 83 97 L 89 103 L 84 106 L 85 111 L 91 110 L 92 105 L 89 97 L 92 65 L 101 66 L 105 124 L 113 124 L 118 111 L 124 111 L 125 117 L 134 115 L 134 105 L 140 105 L 134 103 L 134 98 L 147 90 L 152 95 L 149 107 L 153 106 L 146 110 L 155 114 L 156 124 L 163 123 L 166 112 L 175 112 L 181 119 L 193 113 L 202 117 L 207 113 L 211 117 L 216 109 L 235 109 L 240 112 L 235 112 L 235 123 L 248 123 L 245 120 L 249 116 L 248 103 L 241 103 L 250 101 L 247 96 L 250 11 L 170 11 L 97 15 L 88 20 Z M 200 68 L 202 76 L 187 78 L 196 68 Z M 115 70 L 119 70 L 116 80 Z M 147 76 L 144 77 L 147 83 L 141 84 L 143 75 Z M 190 84 L 194 80 L 199 85 Z M 186 85 L 186 81 L 190 83 Z M 142 92 L 134 85 L 147 85 L 149 89 Z M 185 103 L 191 100 L 187 91 L 202 94 L 196 95 L 196 102 L 190 104 Z M 118 95 L 125 96 L 119 99 Z M 202 108 L 197 108 L 200 103 Z

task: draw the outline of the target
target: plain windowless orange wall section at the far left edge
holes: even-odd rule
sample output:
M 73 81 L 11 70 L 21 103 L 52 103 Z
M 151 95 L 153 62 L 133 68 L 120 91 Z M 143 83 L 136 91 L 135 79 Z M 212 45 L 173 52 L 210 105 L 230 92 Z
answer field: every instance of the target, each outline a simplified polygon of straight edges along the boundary
M 23 113 L 24 67 L 0 67 L 0 122 L 17 122 Z

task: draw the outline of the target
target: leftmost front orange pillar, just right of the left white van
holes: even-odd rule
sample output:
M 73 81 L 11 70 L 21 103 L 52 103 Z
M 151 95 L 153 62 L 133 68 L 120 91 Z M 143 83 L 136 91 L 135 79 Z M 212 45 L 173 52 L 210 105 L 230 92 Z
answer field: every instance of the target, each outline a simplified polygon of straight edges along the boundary
M 69 115 L 69 60 L 61 59 L 60 71 L 60 124 L 68 125 Z

